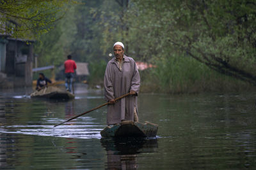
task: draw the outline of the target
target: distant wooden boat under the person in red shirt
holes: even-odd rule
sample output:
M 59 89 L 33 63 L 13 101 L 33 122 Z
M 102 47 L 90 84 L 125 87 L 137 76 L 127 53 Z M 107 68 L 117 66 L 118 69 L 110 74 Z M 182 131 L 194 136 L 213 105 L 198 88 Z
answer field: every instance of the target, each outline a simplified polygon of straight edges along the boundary
M 30 97 L 46 98 L 46 99 L 74 99 L 74 94 L 61 90 L 58 87 L 45 87 L 40 91 L 33 92 Z

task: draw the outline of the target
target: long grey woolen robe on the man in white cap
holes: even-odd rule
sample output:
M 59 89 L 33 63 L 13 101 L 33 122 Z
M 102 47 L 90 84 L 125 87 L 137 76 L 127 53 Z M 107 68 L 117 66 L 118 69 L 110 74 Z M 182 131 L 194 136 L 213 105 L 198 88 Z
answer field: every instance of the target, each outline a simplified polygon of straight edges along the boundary
M 106 100 L 115 99 L 133 90 L 138 94 L 140 74 L 135 61 L 124 55 L 122 70 L 115 57 L 108 62 L 104 76 Z M 138 113 L 137 96 L 127 96 L 115 104 L 108 104 L 107 124 L 119 124 L 121 120 L 134 121 L 134 107 Z

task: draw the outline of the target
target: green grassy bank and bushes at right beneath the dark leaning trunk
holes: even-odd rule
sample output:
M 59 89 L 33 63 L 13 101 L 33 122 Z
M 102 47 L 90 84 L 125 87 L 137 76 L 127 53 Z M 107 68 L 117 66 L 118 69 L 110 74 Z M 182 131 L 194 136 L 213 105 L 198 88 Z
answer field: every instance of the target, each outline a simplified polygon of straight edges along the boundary
M 201 92 L 247 92 L 256 87 L 210 69 L 190 57 L 156 60 L 155 68 L 140 71 L 141 92 L 190 94 Z

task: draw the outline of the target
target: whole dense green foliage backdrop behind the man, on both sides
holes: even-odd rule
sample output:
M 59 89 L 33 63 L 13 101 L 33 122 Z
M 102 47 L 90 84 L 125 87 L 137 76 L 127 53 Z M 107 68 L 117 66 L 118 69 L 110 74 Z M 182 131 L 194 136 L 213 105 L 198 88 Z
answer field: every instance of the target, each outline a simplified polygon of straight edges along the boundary
M 89 62 L 102 83 L 112 45 L 156 68 L 141 71 L 146 92 L 248 90 L 256 85 L 255 1 L 77 1 L 35 45 L 40 66 Z

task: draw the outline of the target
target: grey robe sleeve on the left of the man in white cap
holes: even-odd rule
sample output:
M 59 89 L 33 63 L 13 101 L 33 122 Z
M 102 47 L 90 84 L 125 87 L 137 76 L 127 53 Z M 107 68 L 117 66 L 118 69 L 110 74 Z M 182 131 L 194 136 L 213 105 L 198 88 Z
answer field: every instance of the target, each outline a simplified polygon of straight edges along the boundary
M 114 90 L 113 90 L 113 83 L 112 83 L 112 73 L 111 68 L 107 65 L 105 76 L 104 76 L 104 90 L 105 90 L 105 98 L 107 101 L 110 101 L 111 99 L 115 99 L 114 96 Z

